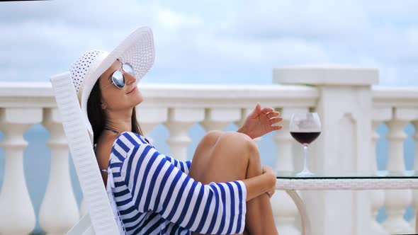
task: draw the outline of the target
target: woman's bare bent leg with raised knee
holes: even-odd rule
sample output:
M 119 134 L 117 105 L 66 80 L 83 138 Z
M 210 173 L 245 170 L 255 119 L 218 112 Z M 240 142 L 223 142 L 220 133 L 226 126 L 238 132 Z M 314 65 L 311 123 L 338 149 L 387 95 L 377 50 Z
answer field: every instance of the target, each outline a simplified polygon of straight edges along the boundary
M 258 147 L 245 134 L 209 132 L 196 148 L 189 176 L 201 183 L 243 180 L 262 173 Z M 264 194 L 247 202 L 244 234 L 277 234 L 271 203 Z

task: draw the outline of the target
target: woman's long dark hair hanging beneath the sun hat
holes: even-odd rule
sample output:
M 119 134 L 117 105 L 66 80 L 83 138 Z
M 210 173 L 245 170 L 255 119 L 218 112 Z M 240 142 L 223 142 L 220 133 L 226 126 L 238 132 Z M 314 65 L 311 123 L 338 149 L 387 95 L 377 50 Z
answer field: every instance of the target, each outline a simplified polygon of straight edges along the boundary
M 106 113 L 101 108 L 101 89 L 98 81 L 99 80 L 97 79 L 96 84 L 94 84 L 93 89 L 91 89 L 89 99 L 87 100 L 87 115 L 89 116 L 91 127 L 93 128 L 94 145 L 96 145 L 98 137 L 100 137 L 106 124 Z M 137 122 L 135 107 L 132 110 L 131 125 L 132 132 L 142 135 L 140 124 Z

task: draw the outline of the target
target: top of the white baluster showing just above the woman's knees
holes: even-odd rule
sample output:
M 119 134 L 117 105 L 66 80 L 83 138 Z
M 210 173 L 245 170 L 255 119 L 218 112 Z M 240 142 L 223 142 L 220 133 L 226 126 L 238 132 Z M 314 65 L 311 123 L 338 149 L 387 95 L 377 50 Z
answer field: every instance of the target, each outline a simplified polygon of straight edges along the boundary
M 206 132 L 210 130 L 224 130 L 231 122 L 240 120 L 241 110 L 232 108 L 207 108 L 205 120 L 200 124 Z

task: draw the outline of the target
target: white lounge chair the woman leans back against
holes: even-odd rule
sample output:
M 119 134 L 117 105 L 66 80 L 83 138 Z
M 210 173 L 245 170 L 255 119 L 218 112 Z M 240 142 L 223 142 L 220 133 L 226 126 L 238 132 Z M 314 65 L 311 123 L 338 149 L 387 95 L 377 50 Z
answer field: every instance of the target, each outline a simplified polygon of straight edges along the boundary
M 89 213 L 68 231 L 68 235 L 115 235 L 118 225 L 100 175 L 91 140 L 69 73 L 51 78 L 62 125 Z

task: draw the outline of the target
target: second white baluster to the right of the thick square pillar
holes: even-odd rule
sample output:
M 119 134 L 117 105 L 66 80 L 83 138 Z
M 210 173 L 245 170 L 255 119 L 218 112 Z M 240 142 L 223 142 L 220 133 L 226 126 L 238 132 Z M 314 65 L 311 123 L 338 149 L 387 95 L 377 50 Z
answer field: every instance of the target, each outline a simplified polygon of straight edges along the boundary
M 387 122 L 389 156 L 388 171 L 404 171 L 403 143 L 407 138 L 404 127 L 409 121 L 395 119 Z M 410 233 L 413 229 L 403 218 L 405 208 L 412 202 L 411 190 L 385 190 L 385 207 L 388 219 L 383 222 L 383 227 L 393 233 Z

